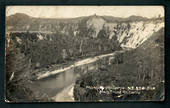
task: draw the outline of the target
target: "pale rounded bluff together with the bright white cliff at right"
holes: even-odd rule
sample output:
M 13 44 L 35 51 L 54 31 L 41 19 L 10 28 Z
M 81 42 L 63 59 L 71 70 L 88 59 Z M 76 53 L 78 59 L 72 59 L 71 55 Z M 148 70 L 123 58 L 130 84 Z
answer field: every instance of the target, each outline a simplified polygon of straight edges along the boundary
M 138 47 L 154 32 L 164 27 L 164 22 L 160 19 L 107 23 L 98 16 L 91 17 L 86 24 L 88 29 L 93 30 L 92 37 L 97 38 L 100 30 L 105 29 L 109 36 L 108 39 L 116 36 L 121 47 L 130 48 Z

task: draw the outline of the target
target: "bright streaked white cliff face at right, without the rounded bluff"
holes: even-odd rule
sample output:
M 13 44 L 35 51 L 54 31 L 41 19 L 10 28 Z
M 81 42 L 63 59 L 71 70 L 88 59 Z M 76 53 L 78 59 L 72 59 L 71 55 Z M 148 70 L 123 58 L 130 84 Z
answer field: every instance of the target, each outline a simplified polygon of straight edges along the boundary
M 153 20 L 130 23 L 106 23 L 105 27 L 110 32 L 109 39 L 117 36 L 121 47 L 136 48 L 152 36 L 154 32 L 164 27 L 164 22 Z

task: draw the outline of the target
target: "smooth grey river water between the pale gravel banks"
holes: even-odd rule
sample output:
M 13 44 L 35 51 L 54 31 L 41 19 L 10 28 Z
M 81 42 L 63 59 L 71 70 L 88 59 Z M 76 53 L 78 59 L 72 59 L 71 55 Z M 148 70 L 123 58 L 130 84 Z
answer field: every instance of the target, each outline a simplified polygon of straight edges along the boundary
M 62 73 L 37 80 L 33 83 L 32 87 L 41 90 L 52 97 L 61 92 L 64 88 L 73 84 L 77 77 L 85 74 L 88 70 L 97 69 L 96 67 L 96 63 L 90 63 L 75 68 L 73 67 Z

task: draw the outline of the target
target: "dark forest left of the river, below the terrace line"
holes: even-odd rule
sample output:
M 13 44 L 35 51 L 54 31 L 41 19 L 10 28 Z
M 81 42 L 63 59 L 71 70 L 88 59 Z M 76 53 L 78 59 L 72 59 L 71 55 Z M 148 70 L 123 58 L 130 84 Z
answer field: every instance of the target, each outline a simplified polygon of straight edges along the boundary
M 9 34 L 9 37 L 6 38 L 6 73 L 7 90 L 9 90 L 7 97 L 15 96 L 10 93 L 15 93 L 18 89 L 23 88 L 22 84 L 33 80 L 38 72 L 51 67 L 51 65 L 61 65 L 80 58 L 120 50 L 117 40 L 102 36 L 94 39 L 85 36 L 85 32 L 80 32 L 76 37 L 71 33 L 66 35 L 59 32 Z M 104 32 L 99 34 L 104 35 Z M 9 38 L 10 43 L 8 43 Z M 41 71 L 38 71 L 39 69 Z M 10 78 L 11 80 L 9 80 Z M 8 99 L 10 98 L 8 97 Z M 35 100 L 32 97 L 30 99 Z

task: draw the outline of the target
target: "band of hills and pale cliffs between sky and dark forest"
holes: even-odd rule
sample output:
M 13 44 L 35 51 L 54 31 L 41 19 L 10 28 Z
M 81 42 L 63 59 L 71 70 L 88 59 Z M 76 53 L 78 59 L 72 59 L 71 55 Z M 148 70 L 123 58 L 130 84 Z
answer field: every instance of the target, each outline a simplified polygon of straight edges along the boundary
M 121 47 L 136 48 L 164 27 L 164 18 L 131 16 L 116 18 L 92 15 L 69 19 L 40 19 L 23 14 L 7 17 L 7 31 L 52 32 L 64 35 L 117 39 Z

